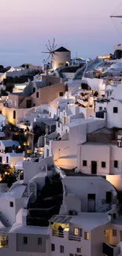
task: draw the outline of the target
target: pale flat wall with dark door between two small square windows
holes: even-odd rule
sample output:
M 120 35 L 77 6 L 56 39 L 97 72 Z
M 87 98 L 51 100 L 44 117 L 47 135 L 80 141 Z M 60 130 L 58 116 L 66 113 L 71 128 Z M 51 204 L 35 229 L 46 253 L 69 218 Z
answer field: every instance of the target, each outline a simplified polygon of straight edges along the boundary
M 86 143 L 78 147 L 78 169 L 82 173 L 91 174 L 91 161 L 97 161 L 97 174 L 109 174 L 109 145 Z M 87 166 L 83 166 L 83 160 Z M 105 168 L 102 168 L 102 161 L 105 161 Z

